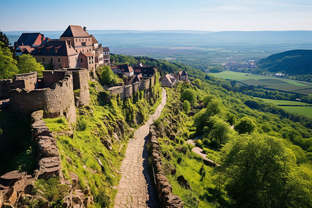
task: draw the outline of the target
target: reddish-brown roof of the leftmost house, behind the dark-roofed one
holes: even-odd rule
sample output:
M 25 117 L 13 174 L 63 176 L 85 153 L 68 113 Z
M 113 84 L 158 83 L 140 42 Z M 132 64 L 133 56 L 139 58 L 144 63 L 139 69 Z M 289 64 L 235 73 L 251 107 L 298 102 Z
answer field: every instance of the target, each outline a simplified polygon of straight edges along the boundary
M 14 43 L 15 48 L 17 46 L 33 46 L 40 45 L 46 38 L 41 33 L 21 33 L 19 40 Z

